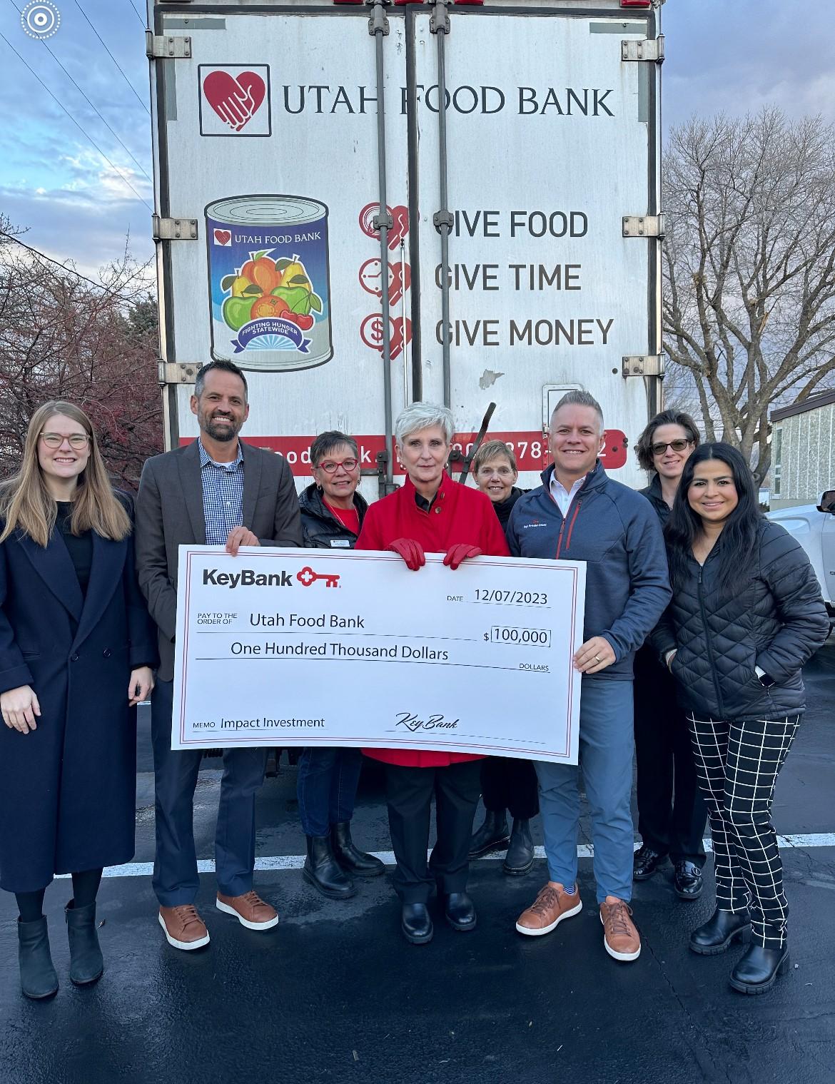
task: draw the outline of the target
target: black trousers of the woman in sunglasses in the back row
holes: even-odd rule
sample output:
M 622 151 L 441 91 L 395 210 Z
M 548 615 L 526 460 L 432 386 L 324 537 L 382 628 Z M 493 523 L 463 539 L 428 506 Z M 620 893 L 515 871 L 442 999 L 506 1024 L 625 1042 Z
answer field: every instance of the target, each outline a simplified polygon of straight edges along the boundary
M 705 864 L 707 809 L 676 681 L 655 653 L 642 647 L 634 667 L 638 830 L 642 841 L 673 862 Z

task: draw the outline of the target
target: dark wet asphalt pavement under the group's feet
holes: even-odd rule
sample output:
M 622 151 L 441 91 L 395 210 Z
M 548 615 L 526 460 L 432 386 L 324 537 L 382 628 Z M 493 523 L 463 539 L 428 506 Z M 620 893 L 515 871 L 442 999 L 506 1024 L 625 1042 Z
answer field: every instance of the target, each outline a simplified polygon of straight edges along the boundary
M 690 930 L 712 908 L 706 889 L 679 901 L 671 870 L 635 886 L 643 949 L 624 965 L 602 945 L 591 861 L 580 860 L 586 908 L 544 938 L 514 930 L 547 878 L 537 862 L 509 878 L 501 862 L 473 864 L 478 928 L 436 922 L 431 945 L 399 932 L 388 877 L 327 901 L 298 868 L 259 870 L 256 887 L 282 916 L 268 933 L 243 929 L 214 907 L 211 874 L 197 904 L 211 934 L 194 953 L 163 939 L 147 876 L 106 878 L 99 896 L 105 973 L 74 989 L 62 907 L 65 880 L 47 894 L 57 996 L 20 995 L 13 898 L 0 893 L 1 1084 L 257 1081 L 381 1084 L 576 1084 L 835 1081 L 835 847 L 796 837 L 835 833 L 835 647 L 807 672 L 810 710 L 780 777 L 774 822 L 799 846 L 781 853 L 792 907 L 792 969 L 770 994 L 728 985 L 738 949 L 698 957 Z M 136 862 L 153 860 L 153 775 L 147 719 L 140 726 Z M 206 760 L 195 798 L 201 857 L 213 856 L 218 760 Z M 265 784 L 258 855 L 300 855 L 295 769 L 286 754 Z M 588 834 L 588 821 L 583 818 Z M 388 851 L 382 779 L 363 774 L 354 835 Z M 537 842 L 541 842 L 535 822 Z M 581 842 L 588 842 L 584 835 Z M 273 863 L 275 865 L 277 863 Z

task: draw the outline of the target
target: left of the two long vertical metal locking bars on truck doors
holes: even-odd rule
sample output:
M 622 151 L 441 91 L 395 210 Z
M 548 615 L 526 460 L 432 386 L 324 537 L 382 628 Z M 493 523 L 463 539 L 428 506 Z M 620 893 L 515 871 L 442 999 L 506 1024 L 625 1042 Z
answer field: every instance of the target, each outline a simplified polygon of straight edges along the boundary
M 385 65 L 383 62 L 383 38 L 388 34 L 385 9 L 389 0 L 367 0 L 371 8 L 369 34 L 374 38 L 377 66 L 377 173 L 380 181 L 380 214 L 374 219 L 374 229 L 380 230 L 380 264 L 383 302 L 383 413 L 386 443 L 385 474 L 381 472 L 380 495 L 390 493 L 394 487 L 395 450 L 391 441 L 394 418 L 391 414 L 391 327 L 388 298 L 388 231 L 394 221 L 388 212 L 386 192 L 386 108 L 385 108 Z

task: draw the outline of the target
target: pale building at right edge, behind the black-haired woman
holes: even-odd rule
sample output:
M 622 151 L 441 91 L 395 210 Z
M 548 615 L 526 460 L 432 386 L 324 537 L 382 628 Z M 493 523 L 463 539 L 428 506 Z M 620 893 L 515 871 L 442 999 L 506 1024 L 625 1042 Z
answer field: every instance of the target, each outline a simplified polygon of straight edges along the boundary
M 835 391 L 771 412 L 771 507 L 818 504 L 835 488 Z

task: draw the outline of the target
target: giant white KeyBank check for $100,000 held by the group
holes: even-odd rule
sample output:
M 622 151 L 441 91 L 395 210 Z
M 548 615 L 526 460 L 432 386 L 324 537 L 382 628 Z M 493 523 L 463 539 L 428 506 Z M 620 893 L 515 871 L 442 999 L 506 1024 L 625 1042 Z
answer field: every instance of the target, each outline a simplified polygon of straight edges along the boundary
M 584 589 L 575 562 L 180 546 L 171 748 L 577 763 Z

